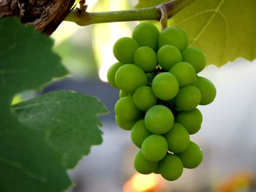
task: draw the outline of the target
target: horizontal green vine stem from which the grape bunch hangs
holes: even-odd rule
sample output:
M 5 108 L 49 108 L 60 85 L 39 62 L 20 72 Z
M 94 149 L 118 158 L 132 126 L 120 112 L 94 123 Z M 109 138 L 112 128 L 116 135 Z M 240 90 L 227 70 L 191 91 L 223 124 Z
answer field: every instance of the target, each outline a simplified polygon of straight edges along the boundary
M 159 6 L 164 6 L 167 11 L 167 18 L 171 18 L 194 1 L 196 0 L 172 0 Z M 160 20 L 162 13 L 159 6 L 112 12 L 86 12 L 86 9 L 77 8 L 72 10 L 65 20 L 75 22 L 79 26 L 132 20 Z

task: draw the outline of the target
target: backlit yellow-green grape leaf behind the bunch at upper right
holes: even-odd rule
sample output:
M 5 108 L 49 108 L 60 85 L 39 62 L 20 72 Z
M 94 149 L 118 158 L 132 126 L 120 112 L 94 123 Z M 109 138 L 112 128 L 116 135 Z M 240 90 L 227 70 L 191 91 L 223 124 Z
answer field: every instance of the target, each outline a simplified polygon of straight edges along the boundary
M 187 31 L 189 46 L 202 49 L 207 64 L 222 66 L 239 57 L 250 61 L 256 58 L 255 20 L 255 0 L 197 0 L 170 18 L 168 24 Z

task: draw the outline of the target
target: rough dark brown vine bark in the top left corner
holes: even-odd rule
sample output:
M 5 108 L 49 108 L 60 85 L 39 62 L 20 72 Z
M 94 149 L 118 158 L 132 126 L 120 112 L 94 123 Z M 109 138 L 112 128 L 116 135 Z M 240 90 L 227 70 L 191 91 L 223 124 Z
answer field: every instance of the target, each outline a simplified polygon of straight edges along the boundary
M 0 18 L 18 17 L 37 31 L 52 34 L 69 14 L 75 0 L 0 0 Z

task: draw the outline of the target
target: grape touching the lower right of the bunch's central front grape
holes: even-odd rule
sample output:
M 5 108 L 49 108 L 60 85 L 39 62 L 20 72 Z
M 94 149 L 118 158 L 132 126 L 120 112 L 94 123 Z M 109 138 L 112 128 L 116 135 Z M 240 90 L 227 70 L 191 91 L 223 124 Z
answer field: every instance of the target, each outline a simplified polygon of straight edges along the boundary
M 173 127 L 164 136 L 168 143 L 168 150 L 173 153 L 181 153 L 189 146 L 189 133 L 179 123 L 173 123 Z

